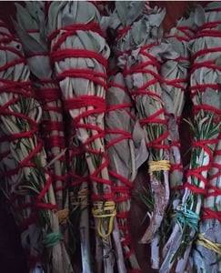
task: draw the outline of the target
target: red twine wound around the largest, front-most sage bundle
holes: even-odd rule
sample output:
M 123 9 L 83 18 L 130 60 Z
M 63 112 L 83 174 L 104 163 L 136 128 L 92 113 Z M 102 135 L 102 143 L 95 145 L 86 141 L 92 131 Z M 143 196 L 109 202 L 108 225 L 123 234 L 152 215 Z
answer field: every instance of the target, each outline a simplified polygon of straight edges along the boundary
M 101 31 L 99 25 L 95 23 L 83 25 L 83 24 L 73 24 L 73 25 L 67 25 L 60 29 L 55 30 L 55 32 L 49 36 L 48 42 L 51 44 L 53 40 L 55 40 L 54 45 L 51 49 L 51 62 L 52 65 L 55 64 L 55 62 L 59 62 L 64 60 L 65 58 L 91 58 L 95 59 L 101 66 L 104 66 L 104 72 L 97 72 L 94 69 L 90 68 L 72 68 L 63 71 L 60 75 L 57 76 L 57 80 L 61 81 L 65 77 L 80 77 L 85 78 L 86 80 L 90 80 L 95 83 L 95 85 L 102 86 L 106 90 L 106 74 L 105 70 L 107 68 L 107 60 L 104 56 L 101 54 L 98 54 L 94 51 L 86 50 L 86 49 L 77 49 L 77 48 L 65 48 L 60 49 L 60 45 L 65 42 L 65 39 L 68 36 L 76 35 L 76 31 L 93 31 L 101 36 L 103 35 L 103 32 Z M 62 34 L 62 35 L 60 35 Z M 58 35 L 60 35 L 58 37 Z M 102 157 L 101 164 L 99 167 L 95 169 L 95 171 L 90 174 L 89 179 L 93 183 L 100 183 L 104 185 L 108 185 L 110 188 L 112 188 L 112 183 L 109 180 L 106 180 L 100 176 L 103 168 L 107 167 L 107 157 L 105 152 L 98 151 L 91 147 L 91 143 L 95 141 L 96 138 L 104 138 L 105 132 L 104 129 L 96 126 L 95 124 L 92 124 L 90 122 L 85 123 L 83 121 L 83 118 L 85 120 L 89 120 L 91 116 L 93 115 L 99 115 L 102 113 L 105 113 L 105 99 L 103 97 L 99 96 L 93 96 L 93 95 L 82 95 L 77 97 L 68 98 L 65 100 L 65 110 L 71 111 L 75 109 L 79 109 L 82 107 L 89 108 L 85 110 L 83 113 L 81 113 L 78 116 L 74 117 L 73 124 L 75 126 L 75 130 L 79 128 L 85 128 L 86 130 L 94 130 L 96 132 L 93 136 L 88 137 L 83 142 L 84 151 L 89 154 L 94 154 L 96 156 Z M 75 174 L 71 175 L 72 177 L 75 177 Z M 80 183 L 81 179 L 79 180 Z M 102 194 L 102 195 L 96 195 L 93 194 L 92 198 L 93 200 L 113 200 L 114 194 L 111 192 L 109 194 Z

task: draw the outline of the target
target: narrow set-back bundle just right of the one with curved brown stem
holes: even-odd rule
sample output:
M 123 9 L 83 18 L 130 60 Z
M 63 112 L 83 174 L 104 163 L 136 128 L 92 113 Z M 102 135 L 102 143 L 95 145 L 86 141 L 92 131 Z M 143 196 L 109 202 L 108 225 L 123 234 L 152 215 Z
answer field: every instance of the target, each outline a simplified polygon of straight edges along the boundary
M 166 59 L 160 68 L 162 76 L 162 97 L 168 117 L 170 157 L 170 187 L 182 185 L 183 166 L 180 155 L 179 123 L 186 102 L 186 87 L 190 68 L 188 42 L 194 37 L 194 13 L 180 18 L 168 34 L 165 42 L 177 52 L 176 59 Z

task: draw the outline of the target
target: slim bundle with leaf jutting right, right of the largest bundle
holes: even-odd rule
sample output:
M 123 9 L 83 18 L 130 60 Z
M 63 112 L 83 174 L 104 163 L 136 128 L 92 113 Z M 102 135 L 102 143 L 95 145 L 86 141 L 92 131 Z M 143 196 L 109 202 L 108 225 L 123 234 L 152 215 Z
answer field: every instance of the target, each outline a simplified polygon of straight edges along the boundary
M 108 82 L 105 141 L 109 174 L 114 184 L 116 220 L 120 229 L 126 269 L 140 272 L 131 242 L 128 214 L 137 168 L 146 160 L 143 130 L 136 122 L 135 108 L 122 73 L 114 71 Z M 142 148 L 141 148 L 142 147 Z M 117 248 L 117 246 L 116 246 Z

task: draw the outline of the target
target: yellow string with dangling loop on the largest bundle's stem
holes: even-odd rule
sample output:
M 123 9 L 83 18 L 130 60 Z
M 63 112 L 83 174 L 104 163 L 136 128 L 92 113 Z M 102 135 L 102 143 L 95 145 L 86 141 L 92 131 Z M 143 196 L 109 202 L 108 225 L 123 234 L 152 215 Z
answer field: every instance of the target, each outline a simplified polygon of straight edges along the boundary
M 96 207 L 96 208 L 95 208 Z M 109 212 L 112 211 L 112 212 Z M 107 238 L 114 226 L 114 218 L 116 217 L 116 204 L 114 201 L 95 201 L 94 207 L 92 208 L 92 214 L 97 218 L 97 233 L 102 238 Z M 110 218 L 108 230 L 106 233 L 103 233 L 101 230 L 102 227 L 102 218 Z

